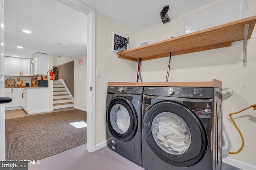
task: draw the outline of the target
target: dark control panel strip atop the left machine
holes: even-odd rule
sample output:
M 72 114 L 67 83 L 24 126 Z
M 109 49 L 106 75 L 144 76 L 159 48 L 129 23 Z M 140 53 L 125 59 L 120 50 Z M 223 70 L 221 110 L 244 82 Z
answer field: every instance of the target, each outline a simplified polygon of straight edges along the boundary
M 142 94 L 143 87 L 136 86 L 108 86 L 108 93 Z

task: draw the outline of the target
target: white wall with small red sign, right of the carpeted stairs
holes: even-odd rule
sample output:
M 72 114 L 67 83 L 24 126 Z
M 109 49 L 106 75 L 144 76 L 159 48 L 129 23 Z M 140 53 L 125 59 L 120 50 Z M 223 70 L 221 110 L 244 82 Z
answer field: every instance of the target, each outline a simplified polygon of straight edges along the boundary
M 84 64 L 78 64 L 83 59 Z M 86 54 L 74 59 L 74 107 L 86 111 Z

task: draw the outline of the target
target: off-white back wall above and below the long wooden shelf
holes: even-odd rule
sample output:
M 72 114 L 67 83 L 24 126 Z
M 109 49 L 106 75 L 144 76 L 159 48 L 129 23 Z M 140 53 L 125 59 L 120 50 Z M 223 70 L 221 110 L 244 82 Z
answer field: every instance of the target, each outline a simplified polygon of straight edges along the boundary
M 222 0 L 217 0 L 220 2 Z M 215 4 L 213 2 L 212 4 Z M 212 5 L 210 4 L 210 5 Z M 182 16 L 172 18 L 168 24 L 157 24 L 136 33 L 136 45 L 140 42 L 150 43 L 177 37 L 185 34 L 183 18 L 210 6 L 198 8 Z M 256 15 L 256 1 L 248 0 L 248 17 Z M 231 47 L 178 55 L 172 57 L 171 72 L 169 82 L 179 81 L 211 81 L 216 78 L 222 81 L 223 87 L 234 90 L 231 98 L 223 102 L 223 122 L 230 135 L 232 151 L 236 151 L 241 146 L 241 138 L 228 118 L 229 113 L 233 113 L 255 104 L 255 84 L 256 84 L 256 28 L 250 40 L 248 40 L 247 66 L 243 67 L 242 53 L 243 42 L 232 43 Z M 168 67 L 169 58 L 143 61 L 141 64 L 142 80 L 144 82 L 164 82 Z M 244 163 L 252 164 L 256 167 L 255 155 L 256 136 L 256 111 L 252 109 L 235 115 L 235 121 L 242 131 L 245 139 L 244 149 L 238 154 L 230 154 L 228 158 L 233 158 Z M 225 162 L 225 160 L 224 160 Z

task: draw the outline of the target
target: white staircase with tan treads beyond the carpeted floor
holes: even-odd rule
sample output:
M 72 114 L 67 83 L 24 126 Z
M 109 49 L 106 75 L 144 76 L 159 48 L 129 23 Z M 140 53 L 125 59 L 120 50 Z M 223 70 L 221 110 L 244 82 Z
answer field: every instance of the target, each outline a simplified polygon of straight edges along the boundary
M 63 80 L 53 82 L 53 109 L 74 107 L 74 98 L 63 83 Z

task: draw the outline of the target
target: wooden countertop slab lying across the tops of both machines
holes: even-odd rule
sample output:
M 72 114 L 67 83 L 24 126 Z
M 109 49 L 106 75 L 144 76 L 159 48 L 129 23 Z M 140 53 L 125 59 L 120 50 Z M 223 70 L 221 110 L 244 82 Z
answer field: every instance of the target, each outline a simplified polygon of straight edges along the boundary
M 221 87 L 222 81 L 212 79 L 211 82 L 108 82 L 108 86 L 142 86 L 142 87 Z

